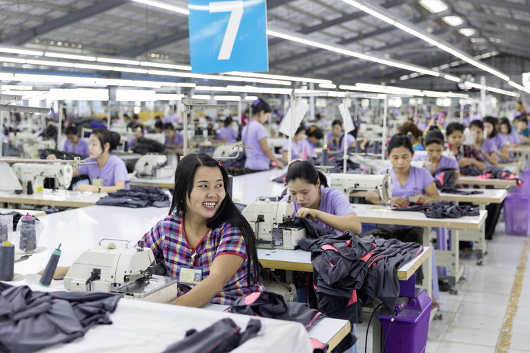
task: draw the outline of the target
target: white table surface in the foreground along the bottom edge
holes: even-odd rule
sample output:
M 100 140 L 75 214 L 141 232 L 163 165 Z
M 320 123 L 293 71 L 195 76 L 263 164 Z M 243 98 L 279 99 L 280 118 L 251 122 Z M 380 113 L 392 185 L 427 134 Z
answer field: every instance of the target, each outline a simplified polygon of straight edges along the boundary
M 84 337 L 41 352 L 162 352 L 187 330 L 201 331 L 223 318 L 242 331 L 252 318 L 262 321 L 259 334 L 231 352 L 313 352 L 301 323 L 127 299 L 119 300 L 110 314 L 112 325 L 95 325 Z

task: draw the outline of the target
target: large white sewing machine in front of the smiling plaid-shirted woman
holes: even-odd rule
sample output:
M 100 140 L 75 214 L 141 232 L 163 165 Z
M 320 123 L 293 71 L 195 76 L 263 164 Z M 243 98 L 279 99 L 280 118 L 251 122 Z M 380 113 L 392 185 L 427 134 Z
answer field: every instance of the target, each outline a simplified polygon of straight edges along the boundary
M 155 263 L 148 247 L 117 248 L 110 242 L 84 251 L 64 277 L 64 287 L 72 292 L 90 291 L 117 294 L 128 299 L 168 303 L 177 298 L 177 280 L 151 274 Z

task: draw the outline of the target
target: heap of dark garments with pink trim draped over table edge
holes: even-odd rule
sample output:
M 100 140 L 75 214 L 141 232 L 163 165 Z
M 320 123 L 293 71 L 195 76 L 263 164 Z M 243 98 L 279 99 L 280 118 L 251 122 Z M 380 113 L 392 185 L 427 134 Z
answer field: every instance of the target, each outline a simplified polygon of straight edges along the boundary
M 361 323 L 362 303 L 382 300 L 393 311 L 400 292 L 397 269 L 422 251 L 422 245 L 397 239 L 359 238 L 349 231 L 300 240 L 311 251 L 313 285 L 320 311 Z

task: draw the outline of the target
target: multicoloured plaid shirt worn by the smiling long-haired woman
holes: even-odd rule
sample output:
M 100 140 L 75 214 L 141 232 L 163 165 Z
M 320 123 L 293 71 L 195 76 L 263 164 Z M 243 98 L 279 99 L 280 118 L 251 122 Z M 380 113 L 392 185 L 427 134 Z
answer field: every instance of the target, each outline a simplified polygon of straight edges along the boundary
M 145 245 L 153 249 L 157 262 L 166 260 L 168 274 L 173 278 L 179 278 L 181 266 L 190 265 L 191 255 L 195 252 L 197 260 L 194 269 L 202 270 L 202 278 L 210 274 L 210 266 L 216 256 L 231 254 L 243 258 L 243 263 L 237 269 L 222 291 L 210 300 L 213 304 L 231 305 L 240 296 L 246 296 L 252 292 L 262 292 L 264 287 L 259 281 L 255 285 L 248 286 L 247 262 L 245 240 L 238 228 L 232 227 L 230 223 L 222 223 L 218 228 L 208 229 L 204 237 L 195 248 L 188 245 L 184 222 L 179 215 L 170 215 L 159 221 L 153 229 L 142 237 Z M 190 291 L 189 285 L 181 285 L 181 294 Z

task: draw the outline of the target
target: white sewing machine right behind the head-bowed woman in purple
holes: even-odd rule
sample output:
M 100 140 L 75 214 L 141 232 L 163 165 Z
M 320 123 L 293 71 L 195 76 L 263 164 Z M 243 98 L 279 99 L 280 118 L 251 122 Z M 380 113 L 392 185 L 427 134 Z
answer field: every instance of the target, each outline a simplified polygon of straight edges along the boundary
M 388 203 L 392 198 L 393 182 L 389 171 L 377 175 L 328 173 L 326 178 L 329 187 L 342 191 L 346 196 L 351 191 L 375 190 L 384 202 Z

